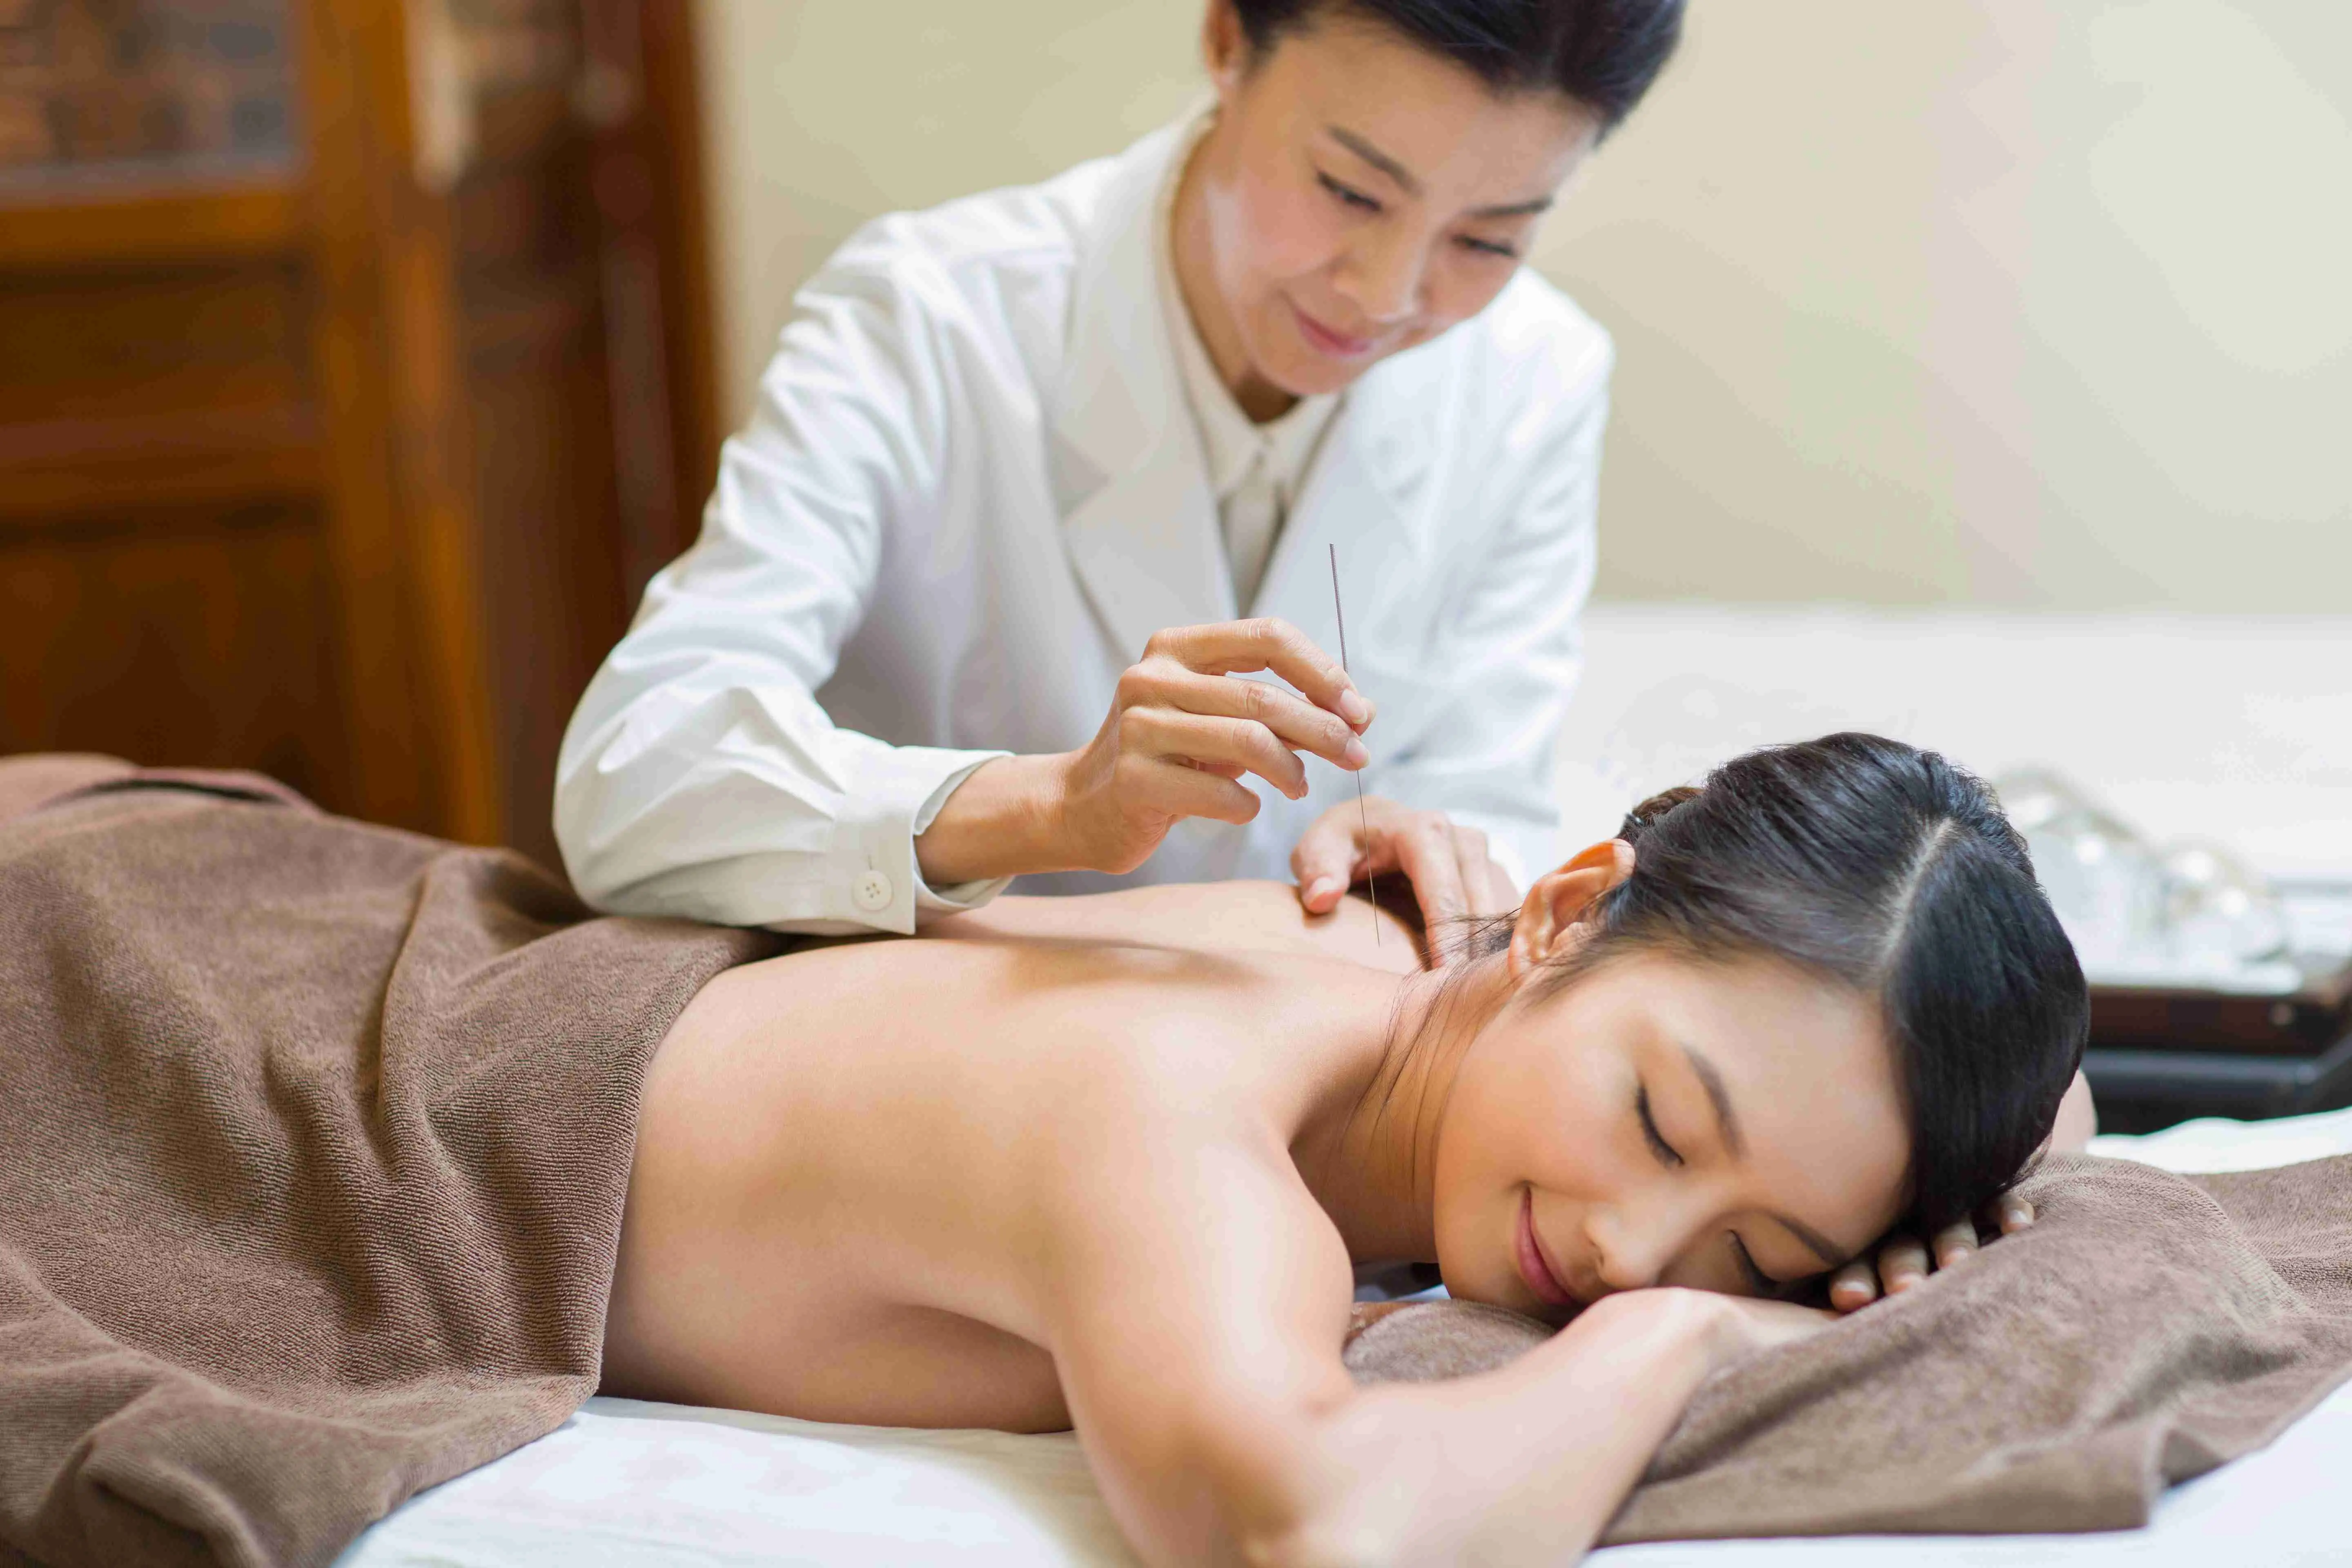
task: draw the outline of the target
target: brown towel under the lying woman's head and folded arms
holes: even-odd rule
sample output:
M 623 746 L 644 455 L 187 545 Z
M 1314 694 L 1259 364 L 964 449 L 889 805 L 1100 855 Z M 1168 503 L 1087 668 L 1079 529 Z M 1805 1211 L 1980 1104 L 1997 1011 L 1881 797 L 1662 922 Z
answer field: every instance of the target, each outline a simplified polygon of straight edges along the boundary
M 2053 1159 L 2032 1229 L 1710 1380 L 1604 1540 L 2119 1530 L 2352 1373 L 2352 1157 L 2178 1178 Z M 1461 1375 L 1543 1326 L 1432 1302 L 1362 1380 Z

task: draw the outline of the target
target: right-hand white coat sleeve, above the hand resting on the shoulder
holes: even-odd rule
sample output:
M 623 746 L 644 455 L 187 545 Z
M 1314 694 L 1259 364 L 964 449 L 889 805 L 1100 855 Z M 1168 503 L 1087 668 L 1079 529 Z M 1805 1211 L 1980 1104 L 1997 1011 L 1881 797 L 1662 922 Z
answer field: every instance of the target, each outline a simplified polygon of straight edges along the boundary
M 1489 489 L 1491 543 L 1446 607 L 1444 717 L 1385 769 L 1376 762 L 1371 785 L 1484 830 L 1522 891 L 1562 851 L 1555 748 L 1583 668 L 1606 350 L 1573 393 L 1529 400 L 1505 435 Z

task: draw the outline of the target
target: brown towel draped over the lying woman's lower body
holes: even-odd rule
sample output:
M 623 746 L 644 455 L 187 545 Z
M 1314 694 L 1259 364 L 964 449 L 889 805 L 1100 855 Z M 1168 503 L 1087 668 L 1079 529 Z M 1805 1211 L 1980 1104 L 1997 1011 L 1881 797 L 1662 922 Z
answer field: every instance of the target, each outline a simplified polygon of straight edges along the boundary
M 329 1563 L 560 1425 L 644 1063 L 776 950 L 273 799 L 0 762 L 0 1561 Z

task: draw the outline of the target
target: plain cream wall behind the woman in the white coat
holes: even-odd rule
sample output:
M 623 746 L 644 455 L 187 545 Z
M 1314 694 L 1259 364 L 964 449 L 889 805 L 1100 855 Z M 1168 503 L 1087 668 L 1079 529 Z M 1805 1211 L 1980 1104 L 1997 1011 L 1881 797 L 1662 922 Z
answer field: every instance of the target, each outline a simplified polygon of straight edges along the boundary
M 729 395 L 863 216 L 1112 150 L 1192 0 L 701 0 Z M 1698 0 L 1536 266 L 1613 597 L 2352 609 L 2352 5 Z

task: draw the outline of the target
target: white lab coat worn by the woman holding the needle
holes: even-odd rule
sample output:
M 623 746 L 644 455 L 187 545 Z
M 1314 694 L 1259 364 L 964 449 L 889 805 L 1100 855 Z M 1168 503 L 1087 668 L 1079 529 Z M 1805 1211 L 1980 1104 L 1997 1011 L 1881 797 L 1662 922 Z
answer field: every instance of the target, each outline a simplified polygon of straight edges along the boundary
M 1002 752 L 1084 745 L 1169 625 L 1232 574 L 1160 310 L 1152 202 L 1183 125 L 1042 186 L 868 223 L 795 301 L 701 541 L 647 588 L 564 733 L 555 832 L 604 910 L 913 931 L 1004 884 L 927 889 L 913 839 Z M 1609 336 L 1519 273 L 1348 393 L 1247 614 L 1338 651 L 1378 703 L 1376 795 L 1555 853 Z M 1352 802 L 1308 759 L 1247 827 L 1190 820 L 1124 879 L 1289 877 Z

